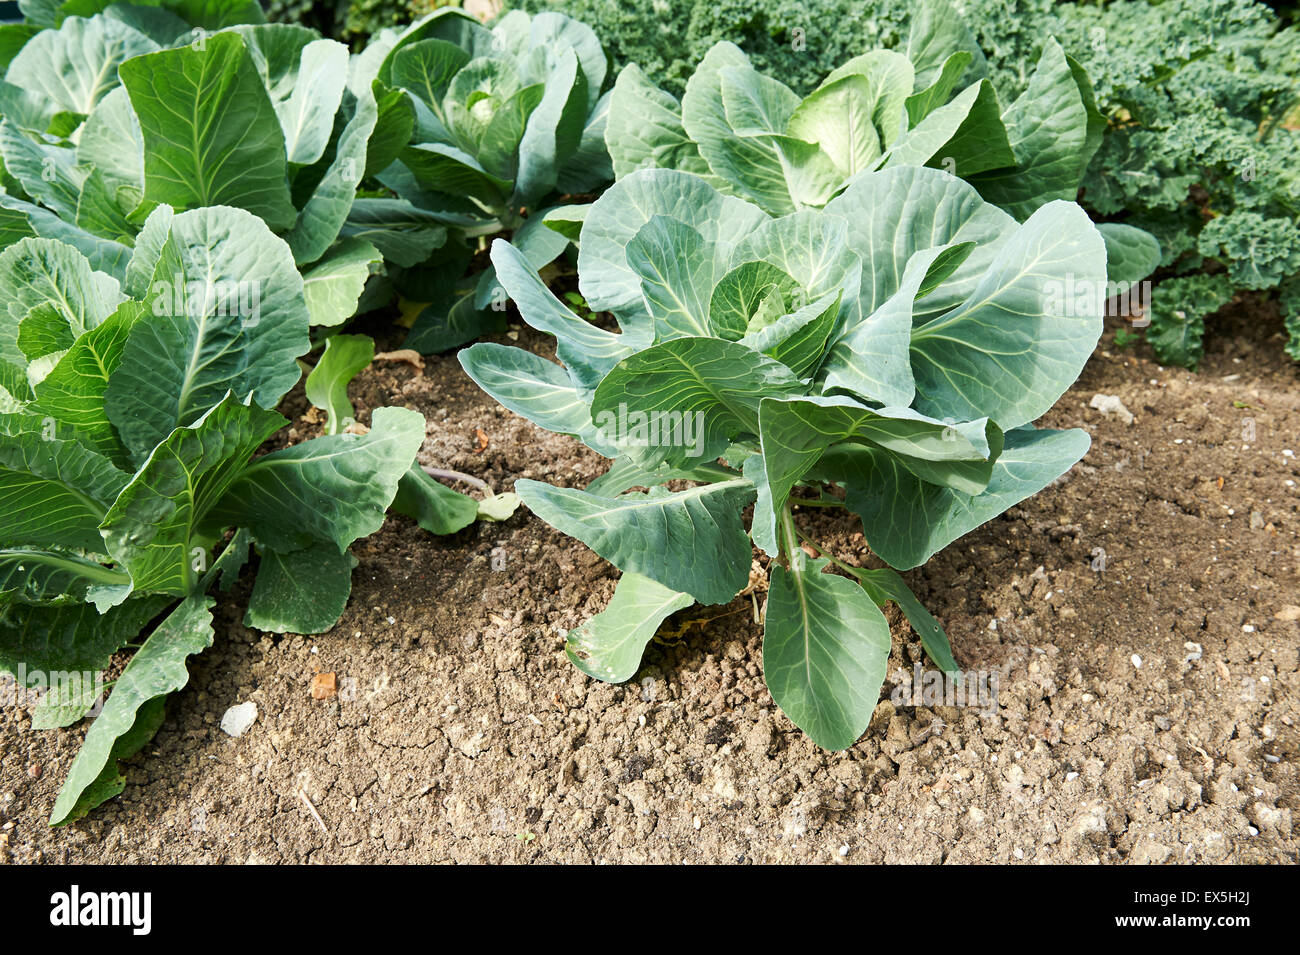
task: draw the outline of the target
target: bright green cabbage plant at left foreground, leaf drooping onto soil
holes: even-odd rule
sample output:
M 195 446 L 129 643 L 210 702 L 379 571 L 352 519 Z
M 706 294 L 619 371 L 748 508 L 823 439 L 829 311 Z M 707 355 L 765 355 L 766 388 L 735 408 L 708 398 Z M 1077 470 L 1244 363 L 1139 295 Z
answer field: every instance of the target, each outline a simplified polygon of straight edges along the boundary
M 408 481 L 424 418 L 404 408 L 259 453 L 311 348 L 303 286 L 289 246 L 228 207 L 155 209 L 121 282 L 55 239 L 0 252 L 0 672 L 44 691 L 35 728 L 68 726 L 94 711 L 112 656 L 138 647 L 52 824 L 122 790 L 118 760 L 212 644 L 209 590 L 250 548 L 244 622 L 326 630 L 351 590 L 348 547 Z

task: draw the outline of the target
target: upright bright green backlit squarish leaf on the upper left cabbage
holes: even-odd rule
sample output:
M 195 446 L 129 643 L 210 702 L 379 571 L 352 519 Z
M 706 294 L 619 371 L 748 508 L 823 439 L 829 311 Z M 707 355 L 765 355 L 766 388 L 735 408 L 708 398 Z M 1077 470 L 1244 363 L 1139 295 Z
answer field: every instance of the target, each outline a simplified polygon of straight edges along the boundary
M 294 225 L 285 135 L 240 36 L 138 56 L 120 73 L 144 138 L 147 200 L 234 205 L 272 229 Z

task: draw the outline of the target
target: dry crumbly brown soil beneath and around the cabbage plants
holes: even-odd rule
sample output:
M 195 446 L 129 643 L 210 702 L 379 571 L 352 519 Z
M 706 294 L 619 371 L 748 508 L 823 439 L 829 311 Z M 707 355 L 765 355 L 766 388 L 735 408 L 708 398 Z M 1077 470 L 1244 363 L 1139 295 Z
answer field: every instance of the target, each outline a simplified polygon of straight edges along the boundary
M 1278 327 L 1239 308 L 1199 374 L 1108 334 L 1044 421 L 1087 427 L 1084 461 L 907 576 L 962 665 L 1000 668 L 994 716 L 896 708 L 887 685 L 862 741 L 822 752 L 763 686 L 748 598 L 677 615 L 667 629 L 731 612 L 598 683 L 563 633 L 608 600 L 610 565 L 524 511 L 450 538 L 393 517 L 328 634 L 246 629 L 246 574 L 126 791 L 86 821 L 46 826 L 81 732 L 0 711 L 0 859 L 1296 861 L 1300 372 Z M 1091 409 L 1098 392 L 1136 422 Z M 454 357 L 376 365 L 352 394 L 363 421 L 424 412 L 421 459 L 498 490 L 603 469 Z M 300 396 L 286 408 L 315 430 Z M 867 560 L 849 517 L 803 520 Z M 890 613 L 890 672 L 910 670 Z M 311 698 L 317 672 L 343 699 Z M 233 739 L 218 722 L 244 700 L 260 715 Z

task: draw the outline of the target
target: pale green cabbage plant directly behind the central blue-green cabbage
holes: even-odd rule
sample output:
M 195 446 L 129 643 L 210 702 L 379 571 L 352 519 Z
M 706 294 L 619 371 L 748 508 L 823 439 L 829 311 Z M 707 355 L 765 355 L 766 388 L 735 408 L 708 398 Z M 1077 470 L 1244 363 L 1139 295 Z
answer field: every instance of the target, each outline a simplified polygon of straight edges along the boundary
M 1024 92 L 1004 105 L 970 30 L 945 3 L 924 3 L 904 51 L 841 64 L 807 96 L 716 43 L 679 103 L 636 64 L 611 91 L 606 144 L 614 172 L 680 169 L 774 216 L 822 208 L 857 177 L 904 165 L 944 169 L 1024 221 L 1074 200 L 1106 127 L 1092 84 L 1050 36 Z M 1149 234 L 1105 225 L 1112 278 L 1160 261 Z

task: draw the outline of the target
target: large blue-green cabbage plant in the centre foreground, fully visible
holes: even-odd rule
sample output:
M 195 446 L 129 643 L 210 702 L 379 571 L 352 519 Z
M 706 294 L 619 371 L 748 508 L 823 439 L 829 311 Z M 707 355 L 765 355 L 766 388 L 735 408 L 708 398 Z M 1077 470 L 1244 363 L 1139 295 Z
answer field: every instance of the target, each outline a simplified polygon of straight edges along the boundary
M 1072 203 L 1019 223 L 970 183 L 898 166 L 783 217 L 690 173 L 640 170 L 580 238 L 582 295 L 621 334 L 569 312 L 497 242 L 498 278 L 563 365 L 491 343 L 460 355 L 504 407 L 615 459 L 586 490 L 516 483 L 623 570 L 608 608 L 569 634 L 571 659 L 628 680 L 667 615 L 748 585 L 753 541 L 774 561 L 772 696 L 819 745 L 850 746 L 889 656 L 878 603 L 898 600 L 931 657 L 956 663 L 893 570 L 809 559 L 796 507 L 850 509 L 907 569 L 1078 461 L 1086 433 L 1031 422 L 1101 333 L 1101 235 Z

